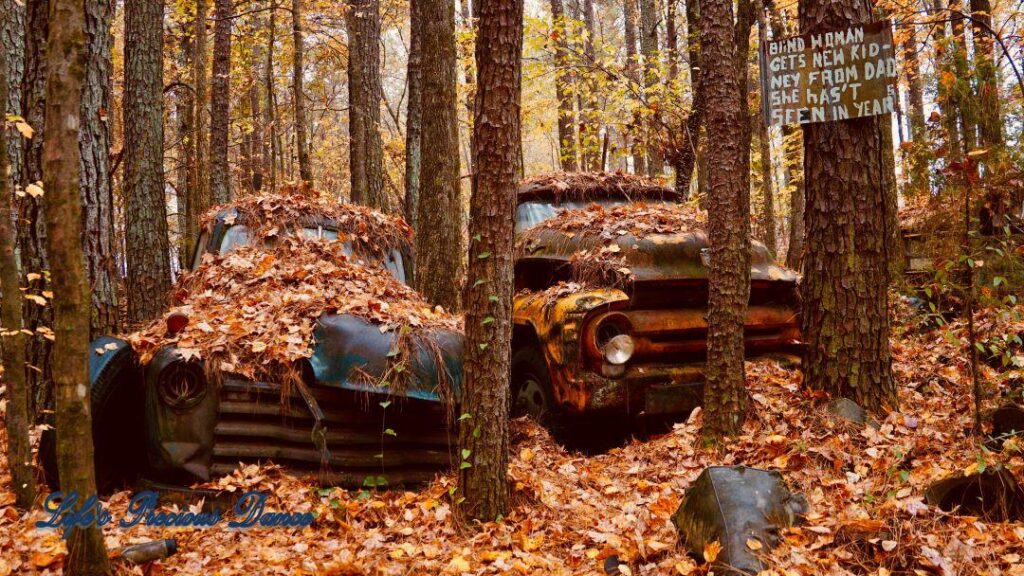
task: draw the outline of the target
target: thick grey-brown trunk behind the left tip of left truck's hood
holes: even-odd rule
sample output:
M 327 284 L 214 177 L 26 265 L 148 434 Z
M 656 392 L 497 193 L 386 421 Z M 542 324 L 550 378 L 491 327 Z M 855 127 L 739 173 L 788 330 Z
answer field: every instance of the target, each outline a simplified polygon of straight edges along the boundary
M 125 251 L 128 322 L 160 315 L 171 287 L 164 203 L 164 2 L 125 5 Z M 62 477 L 61 477 L 62 478 Z

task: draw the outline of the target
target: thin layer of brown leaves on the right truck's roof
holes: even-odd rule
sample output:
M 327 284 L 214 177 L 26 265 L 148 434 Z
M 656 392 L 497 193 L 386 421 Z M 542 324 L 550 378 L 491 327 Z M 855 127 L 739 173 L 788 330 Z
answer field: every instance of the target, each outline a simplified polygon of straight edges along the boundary
M 531 176 L 519 183 L 519 194 L 545 195 L 556 199 L 591 198 L 618 195 L 625 197 L 675 198 L 672 189 L 660 178 L 623 172 L 551 172 Z

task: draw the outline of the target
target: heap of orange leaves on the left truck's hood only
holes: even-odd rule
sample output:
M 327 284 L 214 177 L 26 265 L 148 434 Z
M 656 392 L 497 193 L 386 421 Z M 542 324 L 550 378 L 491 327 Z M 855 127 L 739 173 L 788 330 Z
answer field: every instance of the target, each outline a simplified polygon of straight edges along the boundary
M 174 344 L 182 357 L 206 360 L 208 367 L 272 378 L 311 356 L 313 329 L 324 314 L 353 315 L 382 332 L 460 326 L 387 271 L 346 256 L 340 240 L 287 235 L 269 245 L 207 254 L 175 290 L 183 303 L 166 314 L 183 313 L 188 325 L 168 335 L 160 319 L 129 335 L 143 364 L 160 346 Z

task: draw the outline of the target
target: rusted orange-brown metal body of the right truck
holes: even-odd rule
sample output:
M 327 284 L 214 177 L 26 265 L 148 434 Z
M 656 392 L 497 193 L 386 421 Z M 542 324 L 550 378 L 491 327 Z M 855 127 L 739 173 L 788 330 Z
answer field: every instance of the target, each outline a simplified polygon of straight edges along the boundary
M 615 195 L 603 191 L 594 196 L 607 200 Z M 547 198 L 557 205 L 553 193 Z M 520 203 L 538 199 L 545 199 L 544 191 L 534 187 L 520 196 Z M 618 245 L 616 253 L 632 274 L 628 285 L 546 291 L 571 280 L 578 252 L 594 253 L 610 244 Z M 513 348 L 543 352 L 551 396 L 563 411 L 689 413 L 702 399 L 707 248 L 700 231 L 614 239 L 557 229 L 531 231 L 516 259 Z M 797 274 L 773 263 L 764 245 L 755 243 L 751 278 L 748 356 L 800 354 Z M 602 355 L 605 336 L 612 333 L 629 334 L 635 346 L 623 365 L 610 364 Z

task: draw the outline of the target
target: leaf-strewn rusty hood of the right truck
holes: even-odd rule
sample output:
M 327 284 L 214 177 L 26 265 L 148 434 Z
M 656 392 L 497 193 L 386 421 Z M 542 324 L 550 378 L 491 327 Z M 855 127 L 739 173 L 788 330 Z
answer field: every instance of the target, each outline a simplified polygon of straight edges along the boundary
M 623 285 L 707 279 L 707 215 L 679 204 L 623 204 L 564 210 L 522 234 L 517 256 L 522 270 L 529 260 L 568 264 L 570 278 L 582 284 Z M 797 275 L 771 261 L 755 242 L 752 280 L 794 282 Z

